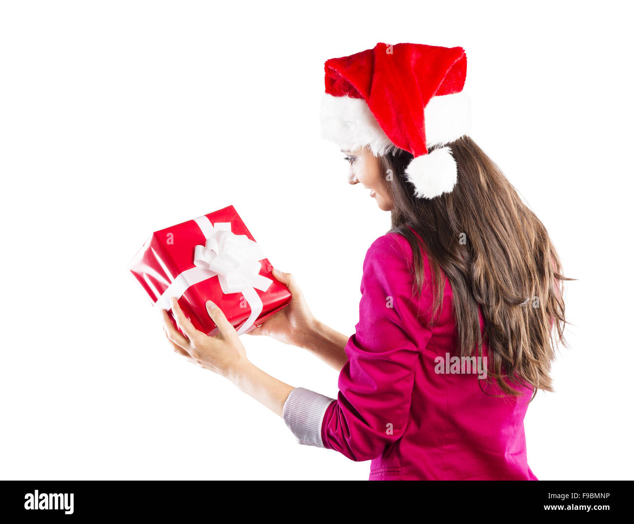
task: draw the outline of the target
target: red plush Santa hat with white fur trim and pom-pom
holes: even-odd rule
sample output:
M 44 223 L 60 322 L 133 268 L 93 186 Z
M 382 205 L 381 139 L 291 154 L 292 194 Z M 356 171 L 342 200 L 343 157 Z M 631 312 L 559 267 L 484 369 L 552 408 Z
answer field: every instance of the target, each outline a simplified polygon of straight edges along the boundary
M 401 148 L 414 155 L 406 176 L 417 197 L 450 192 L 456 162 L 450 147 L 429 148 L 469 132 L 464 49 L 424 44 L 377 44 L 325 63 L 321 105 L 324 138 L 374 155 Z

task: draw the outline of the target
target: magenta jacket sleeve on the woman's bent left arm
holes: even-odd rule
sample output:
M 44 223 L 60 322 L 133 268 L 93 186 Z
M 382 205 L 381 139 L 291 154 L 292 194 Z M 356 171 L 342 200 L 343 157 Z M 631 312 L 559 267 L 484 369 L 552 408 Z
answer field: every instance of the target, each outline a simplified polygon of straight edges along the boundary
M 430 337 L 412 301 L 410 259 L 406 240 L 389 234 L 363 263 L 359 323 L 346 346 L 337 400 L 321 424 L 323 447 L 353 461 L 378 457 L 408 421 L 415 364 Z

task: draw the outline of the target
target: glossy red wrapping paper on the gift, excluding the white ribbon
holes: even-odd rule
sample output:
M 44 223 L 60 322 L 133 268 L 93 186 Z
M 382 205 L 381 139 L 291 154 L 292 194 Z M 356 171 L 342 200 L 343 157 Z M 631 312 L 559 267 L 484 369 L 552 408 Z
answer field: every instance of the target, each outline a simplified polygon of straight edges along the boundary
M 255 242 L 233 206 L 224 207 L 224 209 L 205 216 L 212 224 L 231 223 L 232 233 L 247 235 L 250 240 Z M 204 244 L 205 235 L 193 219 L 165 228 L 153 233 L 152 237 L 145 242 L 131 261 L 129 270 L 141 284 L 141 287 L 145 289 L 152 302 L 155 303 L 179 274 L 194 267 L 194 248 Z M 261 325 L 264 320 L 287 306 L 291 298 L 288 288 L 275 280 L 271 274 L 273 266 L 269 260 L 264 258 L 260 263 L 260 275 L 270 278 L 272 282 L 266 291 L 256 289 L 262 300 L 263 308 L 251 329 L 256 325 Z M 210 335 L 216 334 L 217 328 L 207 314 L 206 303 L 208 300 L 223 310 L 224 315 L 236 330 L 240 329 L 251 313 L 250 306 L 242 292 L 224 294 L 218 277 L 207 278 L 191 285 L 178 299 L 178 305 L 196 329 Z M 171 310 L 168 313 L 174 322 Z

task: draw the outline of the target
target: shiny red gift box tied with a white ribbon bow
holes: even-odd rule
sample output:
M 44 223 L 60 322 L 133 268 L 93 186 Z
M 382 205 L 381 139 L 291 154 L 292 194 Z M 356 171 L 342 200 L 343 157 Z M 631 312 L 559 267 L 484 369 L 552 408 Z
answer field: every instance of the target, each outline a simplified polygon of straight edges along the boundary
M 129 270 L 155 308 L 172 317 L 170 298 L 176 297 L 194 327 L 210 335 L 217 328 L 207 313 L 208 300 L 243 334 L 291 298 L 233 206 L 153 233 Z

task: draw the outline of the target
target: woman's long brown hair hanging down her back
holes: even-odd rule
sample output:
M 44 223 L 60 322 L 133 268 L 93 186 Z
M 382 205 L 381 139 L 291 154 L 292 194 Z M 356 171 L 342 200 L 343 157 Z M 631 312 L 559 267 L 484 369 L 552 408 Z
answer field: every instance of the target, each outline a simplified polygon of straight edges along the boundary
M 381 157 L 394 201 L 391 231 L 411 246 L 419 294 L 427 253 L 434 314 L 443 304 L 443 273 L 448 278 L 460 357 L 482 355 L 486 343 L 488 380 L 503 395 L 521 395 L 514 384 L 529 387 L 533 400 L 538 390 L 553 390 L 550 364 L 557 343 L 566 345 L 563 280 L 573 279 L 564 277 L 546 228 L 493 160 L 469 136 L 448 145 L 458 181 L 434 199 L 415 197 L 404 173 L 410 153 Z

